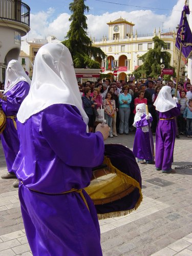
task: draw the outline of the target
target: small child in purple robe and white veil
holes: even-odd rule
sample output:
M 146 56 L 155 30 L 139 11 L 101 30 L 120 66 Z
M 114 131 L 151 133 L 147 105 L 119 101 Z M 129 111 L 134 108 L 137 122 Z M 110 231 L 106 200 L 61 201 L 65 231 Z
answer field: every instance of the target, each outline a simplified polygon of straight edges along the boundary
M 145 108 L 145 103 L 140 103 L 136 106 L 133 126 L 136 127 L 137 130 L 134 139 L 133 153 L 135 157 L 138 158 L 139 163 L 152 164 L 154 163 L 152 156 L 153 148 L 151 148 L 150 139 L 152 139 L 153 143 L 153 137 L 150 138 L 148 125 L 152 122 L 153 118 L 150 113 L 146 115 Z

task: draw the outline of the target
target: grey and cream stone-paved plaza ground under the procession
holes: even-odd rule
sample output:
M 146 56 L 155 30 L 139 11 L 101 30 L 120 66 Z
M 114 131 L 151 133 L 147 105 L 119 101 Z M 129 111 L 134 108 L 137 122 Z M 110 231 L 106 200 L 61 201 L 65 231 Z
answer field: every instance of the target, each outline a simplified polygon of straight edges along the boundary
M 121 143 L 132 149 L 134 136 L 119 135 L 105 143 Z M 185 136 L 176 139 L 175 145 L 173 168 L 181 165 L 192 165 L 192 138 Z M 192 255 L 192 168 L 162 174 L 151 164 L 139 167 L 143 202 L 129 215 L 99 221 L 103 255 Z M 0 142 L 0 175 L 4 173 Z M 13 181 L 0 178 L 0 256 L 32 255 Z

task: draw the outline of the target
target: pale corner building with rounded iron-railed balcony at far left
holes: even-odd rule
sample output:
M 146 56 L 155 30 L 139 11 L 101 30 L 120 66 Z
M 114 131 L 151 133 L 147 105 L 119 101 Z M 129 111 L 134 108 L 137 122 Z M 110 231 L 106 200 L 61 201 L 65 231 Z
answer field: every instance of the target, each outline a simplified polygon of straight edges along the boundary
M 0 81 L 7 63 L 18 59 L 21 37 L 30 31 L 30 8 L 20 0 L 0 0 Z

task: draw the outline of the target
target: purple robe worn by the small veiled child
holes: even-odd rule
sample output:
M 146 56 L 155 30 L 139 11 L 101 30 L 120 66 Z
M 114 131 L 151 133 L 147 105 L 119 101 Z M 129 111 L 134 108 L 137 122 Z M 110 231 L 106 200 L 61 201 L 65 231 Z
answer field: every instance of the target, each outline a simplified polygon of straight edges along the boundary
M 133 153 L 135 157 L 138 159 L 145 159 L 145 160 L 152 160 L 152 150 L 151 150 L 151 144 L 150 144 L 150 133 L 146 132 L 144 133 L 142 131 L 142 127 L 148 126 L 148 122 L 145 119 L 145 114 L 141 117 L 139 121 L 136 122 L 136 134 L 134 139 L 134 145 L 133 145 Z M 150 123 L 152 122 L 153 118 L 150 117 L 148 119 Z M 153 138 L 152 138 L 153 140 Z

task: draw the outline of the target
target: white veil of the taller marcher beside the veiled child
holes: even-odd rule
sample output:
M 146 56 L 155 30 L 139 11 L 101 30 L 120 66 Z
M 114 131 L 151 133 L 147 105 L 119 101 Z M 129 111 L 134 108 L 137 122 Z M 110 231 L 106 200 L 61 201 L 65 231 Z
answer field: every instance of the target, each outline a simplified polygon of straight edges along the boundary
M 171 91 L 172 89 L 169 86 L 162 87 L 154 103 L 157 111 L 166 112 L 177 106 L 175 100 L 172 98 Z

